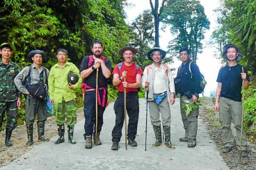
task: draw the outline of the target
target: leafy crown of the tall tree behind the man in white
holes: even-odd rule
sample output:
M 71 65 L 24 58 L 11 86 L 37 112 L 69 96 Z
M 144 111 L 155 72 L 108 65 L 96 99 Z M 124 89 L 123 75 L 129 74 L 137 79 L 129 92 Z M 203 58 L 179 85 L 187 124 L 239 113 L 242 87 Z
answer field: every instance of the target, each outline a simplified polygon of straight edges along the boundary
M 181 46 L 187 46 L 193 60 L 197 60 L 198 52 L 202 49 L 201 41 L 205 31 L 209 29 L 209 21 L 205 9 L 199 1 L 167 1 L 161 21 L 170 24 L 170 33 L 175 38 L 169 42 L 168 49 L 173 56 Z

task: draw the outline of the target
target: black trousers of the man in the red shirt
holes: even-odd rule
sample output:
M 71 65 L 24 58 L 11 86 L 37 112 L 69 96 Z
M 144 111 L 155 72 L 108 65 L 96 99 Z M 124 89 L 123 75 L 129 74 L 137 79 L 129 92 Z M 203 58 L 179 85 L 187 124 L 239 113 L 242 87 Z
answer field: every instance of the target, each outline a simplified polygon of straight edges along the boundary
M 127 130 L 128 139 L 135 139 L 138 127 L 138 92 L 127 92 L 127 114 L 129 117 L 129 124 Z M 118 99 L 116 99 L 114 104 L 115 110 L 115 126 L 112 130 L 112 141 L 118 140 L 122 137 L 122 126 L 125 119 L 125 100 L 124 93 L 118 93 Z

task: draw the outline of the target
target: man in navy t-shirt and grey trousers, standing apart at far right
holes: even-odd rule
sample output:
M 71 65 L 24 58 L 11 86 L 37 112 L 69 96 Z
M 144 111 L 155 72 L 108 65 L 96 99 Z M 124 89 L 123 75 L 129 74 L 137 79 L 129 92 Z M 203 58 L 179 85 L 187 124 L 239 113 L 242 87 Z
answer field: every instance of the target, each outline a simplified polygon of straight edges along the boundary
M 244 81 L 243 88 L 247 90 L 250 80 L 247 69 L 237 64 L 241 60 L 241 57 L 241 51 L 236 45 L 226 44 L 223 47 L 223 58 L 227 60 L 228 64 L 218 72 L 218 86 L 214 107 L 216 111 L 220 112 L 221 131 L 225 141 L 223 153 L 229 153 L 234 144 L 234 137 L 230 129 L 231 119 L 233 119 L 237 131 L 236 143 L 237 145 L 240 144 L 242 128 L 241 86 Z M 241 155 L 243 157 L 248 156 L 246 144 L 246 134 L 243 130 L 241 146 Z

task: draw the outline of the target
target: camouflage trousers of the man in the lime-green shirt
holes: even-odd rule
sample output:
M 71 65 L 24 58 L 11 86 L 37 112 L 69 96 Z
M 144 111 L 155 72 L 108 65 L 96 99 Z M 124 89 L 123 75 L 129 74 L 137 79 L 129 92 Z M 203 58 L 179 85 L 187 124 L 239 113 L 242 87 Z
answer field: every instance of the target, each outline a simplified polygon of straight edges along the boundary
M 54 103 L 54 114 L 56 116 L 56 124 L 61 126 L 67 124 L 67 126 L 74 126 L 77 123 L 77 107 L 76 101 L 62 101 L 62 103 Z

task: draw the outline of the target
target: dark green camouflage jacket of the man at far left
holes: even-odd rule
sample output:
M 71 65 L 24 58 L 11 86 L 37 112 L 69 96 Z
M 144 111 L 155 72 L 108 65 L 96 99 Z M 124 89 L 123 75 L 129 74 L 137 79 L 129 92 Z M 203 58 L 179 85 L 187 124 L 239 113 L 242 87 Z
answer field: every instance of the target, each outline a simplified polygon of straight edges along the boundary
M 0 101 L 17 101 L 21 93 L 17 90 L 14 78 L 19 74 L 19 67 L 10 60 L 8 65 L 0 59 Z

